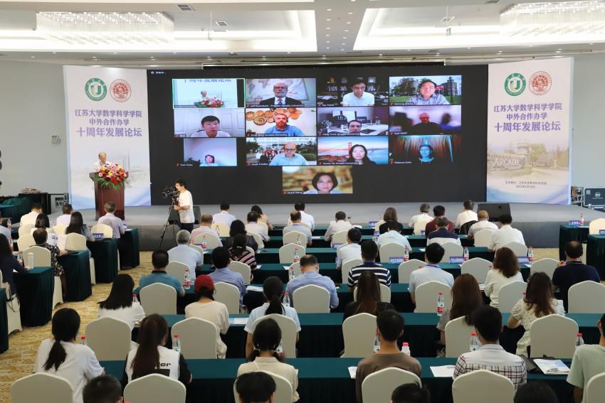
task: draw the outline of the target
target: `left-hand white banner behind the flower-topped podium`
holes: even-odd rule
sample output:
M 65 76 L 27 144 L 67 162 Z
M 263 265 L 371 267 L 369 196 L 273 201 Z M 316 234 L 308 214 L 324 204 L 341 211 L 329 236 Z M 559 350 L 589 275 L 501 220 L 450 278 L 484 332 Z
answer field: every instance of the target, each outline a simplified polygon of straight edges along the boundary
M 130 173 L 125 204 L 151 204 L 146 70 L 63 66 L 63 77 L 73 207 L 95 207 L 88 174 L 100 151 Z

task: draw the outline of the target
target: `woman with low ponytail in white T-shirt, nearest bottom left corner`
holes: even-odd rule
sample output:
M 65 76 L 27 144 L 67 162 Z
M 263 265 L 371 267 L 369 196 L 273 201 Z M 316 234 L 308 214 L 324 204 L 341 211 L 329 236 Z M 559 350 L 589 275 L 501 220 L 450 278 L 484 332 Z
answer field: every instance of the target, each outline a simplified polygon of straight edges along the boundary
M 61 308 L 53 316 L 53 338 L 43 340 L 33 372 L 47 372 L 64 377 L 73 389 L 73 402 L 83 403 L 82 390 L 89 380 L 105 371 L 87 345 L 77 344 L 80 315 L 71 308 Z

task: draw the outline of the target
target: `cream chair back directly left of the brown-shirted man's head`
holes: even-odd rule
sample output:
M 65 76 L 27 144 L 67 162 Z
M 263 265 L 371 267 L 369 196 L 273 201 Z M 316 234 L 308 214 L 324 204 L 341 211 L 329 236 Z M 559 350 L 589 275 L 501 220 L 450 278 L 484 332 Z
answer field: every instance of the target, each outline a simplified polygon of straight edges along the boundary
M 376 316 L 357 313 L 342 323 L 344 353 L 342 358 L 365 358 L 372 355 L 376 338 Z

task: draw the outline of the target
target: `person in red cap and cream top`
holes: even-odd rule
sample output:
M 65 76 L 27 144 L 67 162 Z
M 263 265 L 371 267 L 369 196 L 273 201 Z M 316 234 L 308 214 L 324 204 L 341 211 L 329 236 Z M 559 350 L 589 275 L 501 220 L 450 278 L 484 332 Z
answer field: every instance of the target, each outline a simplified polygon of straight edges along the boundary
M 211 276 L 202 274 L 197 276 L 194 291 L 199 297 L 197 302 L 185 306 L 185 318 L 200 318 L 211 321 L 216 326 L 216 356 L 225 358 L 227 345 L 223 343 L 221 334 L 229 330 L 229 312 L 227 306 L 219 301 L 214 301 L 214 281 Z

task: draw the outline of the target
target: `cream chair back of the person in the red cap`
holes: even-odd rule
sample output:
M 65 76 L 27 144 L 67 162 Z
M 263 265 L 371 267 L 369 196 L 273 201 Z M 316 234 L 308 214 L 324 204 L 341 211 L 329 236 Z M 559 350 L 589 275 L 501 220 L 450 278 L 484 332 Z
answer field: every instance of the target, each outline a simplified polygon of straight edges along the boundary
M 216 336 L 219 329 L 211 321 L 201 318 L 187 318 L 174 323 L 170 331 L 172 337 L 179 335 L 181 354 L 188 360 L 216 358 Z

